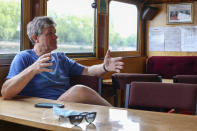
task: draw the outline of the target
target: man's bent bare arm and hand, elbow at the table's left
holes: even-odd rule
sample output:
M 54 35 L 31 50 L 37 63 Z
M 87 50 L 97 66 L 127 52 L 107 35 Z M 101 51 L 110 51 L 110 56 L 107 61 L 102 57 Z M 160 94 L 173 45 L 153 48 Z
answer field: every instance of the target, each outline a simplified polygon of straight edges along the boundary
M 1 94 L 4 99 L 12 99 L 29 83 L 29 81 L 40 72 L 52 72 L 47 69 L 47 66 L 52 66 L 52 63 L 46 63 L 51 59 L 50 53 L 41 56 L 34 64 L 20 72 L 18 75 L 4 82 Z

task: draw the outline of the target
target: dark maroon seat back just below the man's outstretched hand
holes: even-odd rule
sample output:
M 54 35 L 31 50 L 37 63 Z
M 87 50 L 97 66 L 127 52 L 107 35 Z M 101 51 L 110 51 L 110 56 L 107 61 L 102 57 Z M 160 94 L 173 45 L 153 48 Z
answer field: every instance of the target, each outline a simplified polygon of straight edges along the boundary
M 125 90 L 126 84 L 134 81 L 161 82 L 158 74 L 115 73 L 112 75 L 112 84 L 116 89 Z

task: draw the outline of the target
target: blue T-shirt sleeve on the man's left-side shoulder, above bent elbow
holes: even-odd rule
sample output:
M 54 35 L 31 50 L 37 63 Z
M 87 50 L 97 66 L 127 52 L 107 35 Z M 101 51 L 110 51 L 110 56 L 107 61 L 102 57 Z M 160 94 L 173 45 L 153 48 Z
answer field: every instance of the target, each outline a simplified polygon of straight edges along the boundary
M 11 63 L 10 70 L 6 79 L 10 79 L 16 76 L 17 74 L 22 72 L 26 67 L 27 66 L 25 65 L 23 56 L 21 54 L 17 54 Z

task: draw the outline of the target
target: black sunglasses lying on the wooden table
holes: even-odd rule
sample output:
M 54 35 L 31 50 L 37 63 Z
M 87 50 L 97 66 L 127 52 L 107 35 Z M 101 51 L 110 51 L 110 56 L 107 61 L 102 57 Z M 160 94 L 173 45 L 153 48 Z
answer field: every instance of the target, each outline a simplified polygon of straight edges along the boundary
M 68 118 L 71 124 L 77 126 L 82 122 L 84 117 L 85 120 L 90 124 L 95 120 L 96 112 L 82 112 L 79 115 L 71 115 Z

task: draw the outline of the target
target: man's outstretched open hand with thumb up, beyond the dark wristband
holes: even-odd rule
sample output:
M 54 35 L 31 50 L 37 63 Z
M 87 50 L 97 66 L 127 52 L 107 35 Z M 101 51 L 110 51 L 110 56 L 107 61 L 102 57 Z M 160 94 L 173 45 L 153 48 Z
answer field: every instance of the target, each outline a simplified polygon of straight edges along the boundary
M 104 58 L 104 66 L 107 71 L 120 72 L 123 69 L 124 63 L 122 62 L 122 57 L 111 58 L 110 50 L 107 51 Z

